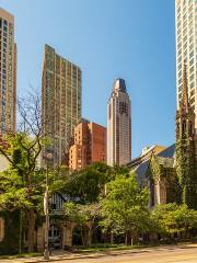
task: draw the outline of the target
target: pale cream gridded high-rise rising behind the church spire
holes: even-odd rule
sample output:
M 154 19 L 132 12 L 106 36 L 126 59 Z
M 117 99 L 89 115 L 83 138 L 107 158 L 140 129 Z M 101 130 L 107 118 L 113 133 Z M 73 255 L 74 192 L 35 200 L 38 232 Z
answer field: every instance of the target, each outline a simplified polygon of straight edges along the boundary
M 197 134 L 197 1 L 175 0 L 176 16 L 176 101 L 182 101 L 183 68 L 187 65 L 189 103 L 196 114 Z

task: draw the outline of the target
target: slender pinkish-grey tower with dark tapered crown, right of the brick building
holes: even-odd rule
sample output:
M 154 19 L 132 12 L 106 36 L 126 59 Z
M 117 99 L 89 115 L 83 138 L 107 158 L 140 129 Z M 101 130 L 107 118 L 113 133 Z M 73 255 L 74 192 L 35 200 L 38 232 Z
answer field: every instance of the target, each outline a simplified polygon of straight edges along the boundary
M 107 107 L 107 164 L 127 164 L 131 159 L 131 116 L 125 80 L 115 81 Z

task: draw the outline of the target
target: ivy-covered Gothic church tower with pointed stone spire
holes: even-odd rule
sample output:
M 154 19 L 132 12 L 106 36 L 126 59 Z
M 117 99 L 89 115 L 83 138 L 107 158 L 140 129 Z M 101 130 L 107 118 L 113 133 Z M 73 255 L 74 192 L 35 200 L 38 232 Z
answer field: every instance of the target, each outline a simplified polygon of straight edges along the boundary
M 195 112 L 190 106 L 186 65 L 183 68 L 183 87 L 179 108 L 176 111 L 176 173 L 182 203 L 197 209 L 197 161 L 195 158 Z

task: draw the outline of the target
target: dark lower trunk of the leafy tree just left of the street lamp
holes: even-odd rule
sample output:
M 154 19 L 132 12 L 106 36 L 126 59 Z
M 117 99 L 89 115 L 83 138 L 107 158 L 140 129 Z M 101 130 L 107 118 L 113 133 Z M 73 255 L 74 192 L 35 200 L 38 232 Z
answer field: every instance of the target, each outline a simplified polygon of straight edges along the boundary
M 33 209 L 27 211 L 27 243 L 28 252 L 34 252 L 34 229 L 35 229 L 35 214 Z

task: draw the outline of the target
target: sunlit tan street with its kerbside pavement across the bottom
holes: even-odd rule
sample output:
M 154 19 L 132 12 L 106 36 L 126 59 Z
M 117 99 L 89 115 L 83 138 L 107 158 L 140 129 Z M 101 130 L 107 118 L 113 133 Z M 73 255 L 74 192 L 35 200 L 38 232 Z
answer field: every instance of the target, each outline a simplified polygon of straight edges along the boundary
M 197 263 L 197 244 L 179 247 L 160 247 L 135 249 L 127 251 L 108 251 L 99 253 L 65 253 L 56 252 L 50 256 L 51 262 L 71 263 Z M 1 263 L 35 263 L 44 262 L 43 258 L 1 260 Z

